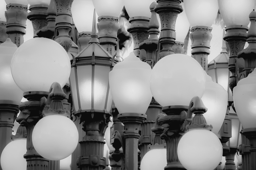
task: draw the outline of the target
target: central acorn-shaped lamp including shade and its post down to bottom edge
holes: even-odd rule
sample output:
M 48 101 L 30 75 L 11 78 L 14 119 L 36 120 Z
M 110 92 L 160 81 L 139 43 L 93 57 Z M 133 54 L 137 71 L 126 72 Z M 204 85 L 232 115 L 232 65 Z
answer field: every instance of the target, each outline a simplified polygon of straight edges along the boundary
M 139 126 L 147 118 L 152 99 L 149 88 L 151 67 L 133 52 L 109 73 L 109 84 L 118 119 L 124 124 L 125 169 L 138 169 Z

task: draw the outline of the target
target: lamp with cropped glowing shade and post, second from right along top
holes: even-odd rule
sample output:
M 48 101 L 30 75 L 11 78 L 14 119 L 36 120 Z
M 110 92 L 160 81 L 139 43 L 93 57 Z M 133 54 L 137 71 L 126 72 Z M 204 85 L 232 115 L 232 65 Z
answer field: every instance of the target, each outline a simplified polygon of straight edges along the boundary
M 184 10 L 191 26 L 191 55 L 207 72 L 211 25 L 217 16 L 218 3 L 216 0 L 184 0 Z

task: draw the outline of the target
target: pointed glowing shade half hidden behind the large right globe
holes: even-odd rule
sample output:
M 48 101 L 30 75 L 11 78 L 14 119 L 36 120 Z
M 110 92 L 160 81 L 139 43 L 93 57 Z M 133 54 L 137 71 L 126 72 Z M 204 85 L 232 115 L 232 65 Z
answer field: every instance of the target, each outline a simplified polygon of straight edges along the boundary
M 208 110 L 203 116 L 207 124 L 213 126 L 212 132 L 218 135 L 226 116 L 228 93 L 220 84 L 213 82 L 206 72 L 205 75 L 206 86 L 202 101 Z

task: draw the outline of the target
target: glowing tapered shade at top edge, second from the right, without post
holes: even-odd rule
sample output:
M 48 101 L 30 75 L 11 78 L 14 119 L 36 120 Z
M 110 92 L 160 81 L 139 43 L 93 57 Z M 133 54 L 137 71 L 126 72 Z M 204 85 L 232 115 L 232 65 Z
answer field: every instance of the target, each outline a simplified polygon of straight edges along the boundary
M 184 9 L 191 27 L 211 26 L 218 13 L 217 0 L 184 0 Z

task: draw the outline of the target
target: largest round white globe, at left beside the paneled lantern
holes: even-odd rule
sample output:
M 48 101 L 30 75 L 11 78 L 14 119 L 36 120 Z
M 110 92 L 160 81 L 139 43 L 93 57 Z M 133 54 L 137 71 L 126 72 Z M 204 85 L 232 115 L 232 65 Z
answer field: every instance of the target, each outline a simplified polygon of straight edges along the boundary
M 71 65 L 60 44 L 48 38 L 33 38 L 16 50 L 11 70 L 14 81 L 24 92 L 48 92 L 53 82 L 64 87 Z

